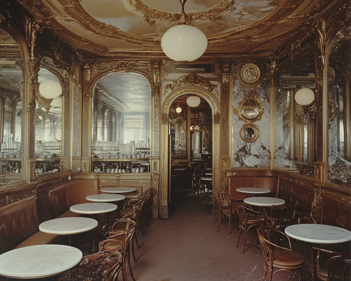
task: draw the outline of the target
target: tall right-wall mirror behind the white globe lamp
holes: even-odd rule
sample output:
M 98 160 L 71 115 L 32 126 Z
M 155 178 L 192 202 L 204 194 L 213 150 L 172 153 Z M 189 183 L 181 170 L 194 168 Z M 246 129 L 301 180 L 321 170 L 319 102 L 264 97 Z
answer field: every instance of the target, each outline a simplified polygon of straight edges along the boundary
M 313 103 L 302 106 L 294 100 L 301 88 L 315 90 L 313 54 L 283 64 L 275 92 L 275 168 L 314 176 L 315 111 Z

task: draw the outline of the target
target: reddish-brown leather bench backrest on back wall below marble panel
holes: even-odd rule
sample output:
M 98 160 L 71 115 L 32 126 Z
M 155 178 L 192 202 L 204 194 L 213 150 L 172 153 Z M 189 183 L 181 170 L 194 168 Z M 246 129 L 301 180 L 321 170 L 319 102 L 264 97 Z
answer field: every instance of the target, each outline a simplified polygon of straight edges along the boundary
M 229 176 L 228 194 L 237 200 L 251 197 L 252 194 L 236 191 L 240 187 L 258 187 L 270 189 L 270 193 L 255 194 L 255 197 L 276 197 L 278 188 L 278 178 L 273 176 Z

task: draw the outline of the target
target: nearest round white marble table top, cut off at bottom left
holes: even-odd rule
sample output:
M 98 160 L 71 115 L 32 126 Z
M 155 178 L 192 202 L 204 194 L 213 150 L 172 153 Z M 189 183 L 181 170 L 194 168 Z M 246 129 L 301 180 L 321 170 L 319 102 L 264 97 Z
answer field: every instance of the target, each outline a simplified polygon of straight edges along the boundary
M 77 265 L 82 252 L 65 245 L 35 245 L 0 255 L 0 275 L 16 278 L 59 274 Z

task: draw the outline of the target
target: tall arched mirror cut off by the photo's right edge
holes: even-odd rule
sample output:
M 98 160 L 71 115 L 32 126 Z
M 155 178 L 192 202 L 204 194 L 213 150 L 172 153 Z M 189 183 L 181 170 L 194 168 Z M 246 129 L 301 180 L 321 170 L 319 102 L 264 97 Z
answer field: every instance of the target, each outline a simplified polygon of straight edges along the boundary
M 331 183 L 351 188 L 350 156 L 350 28 L 340 30 L 329 57 L 329 157 Z

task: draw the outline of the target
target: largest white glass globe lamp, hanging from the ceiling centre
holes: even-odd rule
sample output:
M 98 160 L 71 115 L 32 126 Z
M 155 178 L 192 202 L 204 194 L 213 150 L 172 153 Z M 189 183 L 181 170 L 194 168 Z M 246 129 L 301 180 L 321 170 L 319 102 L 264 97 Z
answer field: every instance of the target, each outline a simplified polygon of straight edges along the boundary
M 167 57 L 175 61 L 193 61 L 206 51 L 207 38 L 194 26 L 176 25 L 163 34 L 161 48 Z

